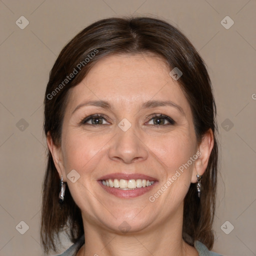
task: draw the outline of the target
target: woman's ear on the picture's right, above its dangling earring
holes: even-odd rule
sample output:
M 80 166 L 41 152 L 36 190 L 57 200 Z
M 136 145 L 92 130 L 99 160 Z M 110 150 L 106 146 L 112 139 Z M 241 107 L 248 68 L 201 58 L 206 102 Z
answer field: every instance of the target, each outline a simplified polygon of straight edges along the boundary
M 196 153 L 198 158 L 194 162 L 191 183 L 197 182 L 197 173 L 202 175 L 206 170 L 213 144 L 213 132 L 211 129 L 208 129 L 203 135 L 200 144 L 198 145 L 198 151 Z

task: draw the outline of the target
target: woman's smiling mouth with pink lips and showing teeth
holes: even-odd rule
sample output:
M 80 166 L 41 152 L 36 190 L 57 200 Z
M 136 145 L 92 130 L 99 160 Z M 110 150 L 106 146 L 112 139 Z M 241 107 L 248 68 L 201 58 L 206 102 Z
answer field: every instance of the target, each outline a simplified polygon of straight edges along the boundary
M 112 173 L 100 177 L 97 181 L 106 192 L 120 198 L 142 195 L 158 182 L 156 178 L 138 173 Z

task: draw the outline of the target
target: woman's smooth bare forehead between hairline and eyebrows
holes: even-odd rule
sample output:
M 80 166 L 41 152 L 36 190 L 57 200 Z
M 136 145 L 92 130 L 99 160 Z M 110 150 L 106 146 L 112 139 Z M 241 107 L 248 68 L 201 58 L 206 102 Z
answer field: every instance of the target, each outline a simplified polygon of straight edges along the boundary
M 189 108 L 169 71 L 167 62 L 153 54 L 105 56 L 71 89 L 69 107 L 85 99 L 101 99 L 127 106 L 146 100 L 172 100 Z

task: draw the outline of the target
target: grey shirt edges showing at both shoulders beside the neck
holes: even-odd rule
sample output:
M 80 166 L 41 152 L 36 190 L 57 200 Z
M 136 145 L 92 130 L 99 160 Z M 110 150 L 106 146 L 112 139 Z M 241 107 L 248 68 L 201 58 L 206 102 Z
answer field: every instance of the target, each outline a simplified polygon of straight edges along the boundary
M 82 235 L 81 238 L 76 243 L 72 244 L 67 250 L 56 256 L 75 256 L 75 254 L 83 244 L 84 235 Z M 216 252 L 209 251 L 208 248 L 198 240 L 194 241 L 194 247 L 198 251 L 199 256 L 221 256 Z

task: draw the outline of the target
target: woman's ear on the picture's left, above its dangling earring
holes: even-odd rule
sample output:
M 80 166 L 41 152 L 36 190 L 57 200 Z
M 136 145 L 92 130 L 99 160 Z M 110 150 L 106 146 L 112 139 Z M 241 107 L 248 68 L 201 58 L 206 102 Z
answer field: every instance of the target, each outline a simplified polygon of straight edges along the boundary
M 54 165 L 59 174 L 59 179 L 61 178 L 61 175 L 62 175 L 63 181 L 66 182 L 66 174 L 65 174 L 64 164 L 63 164 L 63 156 L 62 156 L 61 146 L 60 145 L 57 146 L 54 144 L 49 131 L 47 132 L 46 140 L 47 140 L 47 145 L 50 150 L 51 156 L 54 161 Z

